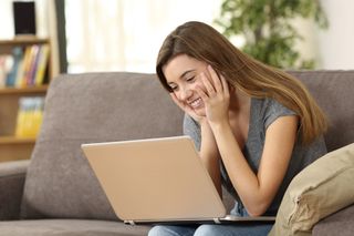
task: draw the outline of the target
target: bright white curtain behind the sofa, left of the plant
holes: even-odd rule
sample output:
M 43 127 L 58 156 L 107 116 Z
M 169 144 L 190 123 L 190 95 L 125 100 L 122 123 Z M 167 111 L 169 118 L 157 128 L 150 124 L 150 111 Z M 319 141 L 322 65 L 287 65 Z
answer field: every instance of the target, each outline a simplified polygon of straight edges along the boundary
M 158 49 L 177 25 L 212 24 L 220 0 L 65 2 L 69 72 L 155 72 Z

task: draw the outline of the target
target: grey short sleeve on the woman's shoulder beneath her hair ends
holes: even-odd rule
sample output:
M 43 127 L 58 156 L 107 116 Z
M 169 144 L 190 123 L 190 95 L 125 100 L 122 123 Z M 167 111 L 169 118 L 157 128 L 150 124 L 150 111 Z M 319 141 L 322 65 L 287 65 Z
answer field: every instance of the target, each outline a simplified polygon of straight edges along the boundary
M 268 100 L 267 101 L 267 109 L 264 112 L 264 127 L 266 130 L 277 119 L 281 116 L 288 115 L 296 115 L 296 113 L 283 104 L 279 103 L 275 100 Z

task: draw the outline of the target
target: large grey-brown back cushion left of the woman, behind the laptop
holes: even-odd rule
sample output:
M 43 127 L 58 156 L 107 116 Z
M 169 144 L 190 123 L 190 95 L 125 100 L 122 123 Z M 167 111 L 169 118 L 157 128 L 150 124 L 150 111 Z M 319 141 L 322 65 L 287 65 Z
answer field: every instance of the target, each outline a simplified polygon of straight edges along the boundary
M 27 174 L 22 218 L 117 219 L 81 144 L 180 135 L 183 116 L 153 74 L 54 79 Z

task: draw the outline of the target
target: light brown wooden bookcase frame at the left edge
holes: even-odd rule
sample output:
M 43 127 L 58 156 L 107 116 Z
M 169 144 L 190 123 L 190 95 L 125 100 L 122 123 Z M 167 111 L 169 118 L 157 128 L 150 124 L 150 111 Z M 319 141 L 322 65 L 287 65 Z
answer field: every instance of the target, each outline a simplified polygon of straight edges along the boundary
M 49 61 L 44 71 L 44 85 L 0 88 L 0 162 L 27 160 L 31 157 L 35 138 L 14 136 L 19 102 L 23 96 L 45 96 L 48 84 L 56 75 L 54 73 L 56 70 L 53 70 L 54 60 L 51 41 L 49 39 L 27 35 L 0 40 L 0 55 L 4 57 L 11 57 L 13 49 L 17 47 L 25 49 L 33 44 L 48 44 L 50 47 Z

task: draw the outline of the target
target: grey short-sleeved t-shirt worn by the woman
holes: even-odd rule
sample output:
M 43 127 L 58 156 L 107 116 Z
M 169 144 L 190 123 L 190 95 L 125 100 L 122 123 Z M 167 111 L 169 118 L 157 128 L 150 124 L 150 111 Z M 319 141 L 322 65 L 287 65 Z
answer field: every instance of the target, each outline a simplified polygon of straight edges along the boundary
M 254 173 L 258 172 L 258 167 L 260 164 L 260 158 L 263 151 L 266 131 L 270 124 L 272 124 L 278 117 L 287 116 L 287 115 L 295 115 L 295 113 L 288 107 L 283 106 L 279 102 L 272 99 L 251 99 L 251 109 L 250 109 L 250 122 L 249 122 L 249 131 L 248 138 L 242 150 L 242 153 L 249 163 L 250 167 Z M 194 121 L 190 116 L 185 115 L 184 121 L 184 133 L 185 135 L 190 136 L 195 145 L 198 150 L 200 150 L 200 127 L 199 124 Z M 310 145 L 303 146 L 301 145 L 301 141 L 298 138 L 295 146 L 293 148 L 293 153 L 291 156 L 291 161 L 289 164 L 289 168 L 287 171 L 287 175 L 273 199 L 270 207 L 268 208 L 264 215 L 275 215 L 277 211 L 280 206 L 281 199 L 285 193 L 288 185 L 291 179 L 305 166 L 321 157 L 326 153 L 326 147 L 324 143 L 324 138 L 320 137 L 315 142 Z M 236 198 L 236 201 L 242 205 L 240 198 L 238 197 L 230 178 L 227 174 L 227 171 L 220 162 L 221 170 L 221 179 L 223 186 L 228 189 L 228 192 Z M 275 170 L 274 170 L 275 171 Z

